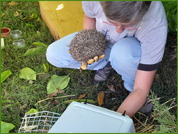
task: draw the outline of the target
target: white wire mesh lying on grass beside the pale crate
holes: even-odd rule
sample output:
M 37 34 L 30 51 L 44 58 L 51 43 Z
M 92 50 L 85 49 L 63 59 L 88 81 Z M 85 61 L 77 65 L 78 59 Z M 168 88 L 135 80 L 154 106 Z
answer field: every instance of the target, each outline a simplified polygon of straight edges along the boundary
M 60 114 L 49 111 L 26 114 L 18 133 L 47 133 L 59 117 Z

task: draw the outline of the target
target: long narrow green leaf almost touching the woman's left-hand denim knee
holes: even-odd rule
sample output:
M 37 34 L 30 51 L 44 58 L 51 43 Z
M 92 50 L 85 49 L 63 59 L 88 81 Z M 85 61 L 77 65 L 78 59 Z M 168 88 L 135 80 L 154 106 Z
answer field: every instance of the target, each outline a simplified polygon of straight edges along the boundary
M 45 53 L 45 52 L 46 52 L 46 48 L 35 47 L 35 48 L 28 49 L 23 56 L 36 55 L 36 54 L 41 54 L 41 53 Z

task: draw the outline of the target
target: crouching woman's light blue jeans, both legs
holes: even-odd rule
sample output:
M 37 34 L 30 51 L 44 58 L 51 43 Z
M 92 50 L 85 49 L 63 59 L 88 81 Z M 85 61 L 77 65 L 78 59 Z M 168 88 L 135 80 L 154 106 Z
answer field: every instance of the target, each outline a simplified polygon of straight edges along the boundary
M 59 68 L 80 68 L 81 63 L 74 60 L 67 52 L 69 50 L 67 45 L 70 44 L 76 33 L 65 36 L 49 45 L 46 52 L 49 63 Z M 113 69 L 122 76 L 125 88 L 131 92 L 140 57 L 140 42 L 134 37 L 127 37 L 117 41 L 114 45 L 108 44 L 105 57 L 88 65 L 87 69 L 101 69 L 110 61 Z

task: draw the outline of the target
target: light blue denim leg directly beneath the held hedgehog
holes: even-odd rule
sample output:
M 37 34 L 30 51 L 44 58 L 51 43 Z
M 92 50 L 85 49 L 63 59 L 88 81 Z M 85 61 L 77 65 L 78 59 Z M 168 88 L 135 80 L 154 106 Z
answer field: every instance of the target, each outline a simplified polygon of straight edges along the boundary
M 46 51 L 46 58 L 49 63 L 59 68 L 80 68 L 81 63 L 74 60 L 67 52 L 69 50 L 67 45 L 70 44 L 70 41 L 73 39 L 76 33 L 67 35 L 48 46 Z M 108 46 L 107 50 L 105 51 L 105 57 L 91 65 L 88 65 L 87 69 L 98 70 L 103 68 L 109 62 L 108 59 L 110 51 L 111 48 Z

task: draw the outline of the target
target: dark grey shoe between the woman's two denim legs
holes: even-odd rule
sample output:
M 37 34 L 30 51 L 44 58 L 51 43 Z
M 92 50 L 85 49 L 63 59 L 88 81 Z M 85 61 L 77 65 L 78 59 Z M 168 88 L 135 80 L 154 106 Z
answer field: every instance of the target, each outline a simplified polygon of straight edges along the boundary
M 109 62 L 104 68 L 96 71 L 93 83 L 98 84 L 98 83 L 106 81 L 112 71 L 113 71 L 113 68 Z

